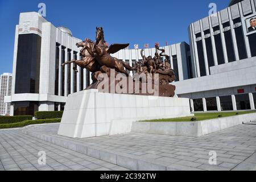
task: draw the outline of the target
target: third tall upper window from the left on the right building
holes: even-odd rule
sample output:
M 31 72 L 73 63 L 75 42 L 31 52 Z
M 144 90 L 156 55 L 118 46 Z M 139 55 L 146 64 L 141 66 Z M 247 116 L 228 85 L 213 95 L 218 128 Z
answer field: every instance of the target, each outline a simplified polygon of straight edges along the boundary
M 213 27 L 213 31 L 214 32 L 220 31 L 220 27 L 219 26 Z M 224 53 L 223 53 L 223 49 L 222 49 L 220 33 L 214 35 L 214 42 L 215 42 L 215 47 L 216 47 L 216 52 L 217 52 L 218 65 L 224 64 L 225 60 L 224 60 Z

